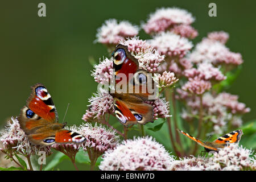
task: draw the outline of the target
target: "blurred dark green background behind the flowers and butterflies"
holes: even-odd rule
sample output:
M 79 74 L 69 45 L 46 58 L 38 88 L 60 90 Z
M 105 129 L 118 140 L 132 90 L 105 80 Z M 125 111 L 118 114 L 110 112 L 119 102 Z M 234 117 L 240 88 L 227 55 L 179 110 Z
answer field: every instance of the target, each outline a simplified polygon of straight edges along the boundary
M 38 16 L 38 3 L 46 3 L 46 17 Z M 208 16 L 210 2 L 217 4 L 217 17 Z M 90 76 L 89 57 L 96 61 L 108 56 L 106 48 L 94 44 L 96 30 L 106 19 L 129 20 L 140 25 L 158 7 L 179 7 L 193 14 L 192 24 L 200 42 L 208 32 L 224 30 L 230 39 L 226 46 L 243 56 L 243 69 L 228 92 L 251 108 L 243 121 L 256 118 L 255 1 L 5 1 L 1 3 L 0 48 L 0 126 L 19 115 L 26 104 L 30 86 L 44 84 L 63 121 L 82 122 L 88 98 L 97 90 Z M 141 30 L 142 39 L 149 38 Z M 69 161 L 67 161 L 69 163 Z M 64 167 L 64 166 L 63 166 Z

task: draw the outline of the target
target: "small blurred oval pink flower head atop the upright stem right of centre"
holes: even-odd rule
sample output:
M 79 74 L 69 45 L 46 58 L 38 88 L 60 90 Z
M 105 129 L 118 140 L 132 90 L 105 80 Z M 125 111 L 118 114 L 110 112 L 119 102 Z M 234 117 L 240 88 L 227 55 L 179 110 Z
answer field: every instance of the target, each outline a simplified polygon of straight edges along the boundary
M 188 78 L 188 82 L 182 86 L 182 89 L 192 94 L 201 95 L 212 87 L 209 81 L 201 80 L 199 77 Z

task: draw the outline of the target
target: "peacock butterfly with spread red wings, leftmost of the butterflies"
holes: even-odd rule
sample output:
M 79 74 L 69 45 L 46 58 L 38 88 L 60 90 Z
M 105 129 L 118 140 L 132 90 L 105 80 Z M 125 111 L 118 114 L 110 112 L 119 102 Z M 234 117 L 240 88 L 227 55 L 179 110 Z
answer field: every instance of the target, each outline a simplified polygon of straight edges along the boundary
M 54 143 L 82 143 L 85 137 L 64 129 L 67 123 L 58 123 L 56 107 L 46 87 L 31 87 L 27 105 L 20 110 L 18 121 L 28 140 L 35 145 L 49 146 Z

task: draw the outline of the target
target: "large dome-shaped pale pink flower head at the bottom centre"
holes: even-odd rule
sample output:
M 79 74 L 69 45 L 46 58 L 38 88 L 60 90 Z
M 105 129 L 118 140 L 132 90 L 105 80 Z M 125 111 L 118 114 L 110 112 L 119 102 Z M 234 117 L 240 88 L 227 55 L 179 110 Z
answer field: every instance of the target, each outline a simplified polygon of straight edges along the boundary
M 106 171 L 167 170 L 174 156 L 152 137 L 123 141 L 114 150 L 106 151 L 99 166 Z

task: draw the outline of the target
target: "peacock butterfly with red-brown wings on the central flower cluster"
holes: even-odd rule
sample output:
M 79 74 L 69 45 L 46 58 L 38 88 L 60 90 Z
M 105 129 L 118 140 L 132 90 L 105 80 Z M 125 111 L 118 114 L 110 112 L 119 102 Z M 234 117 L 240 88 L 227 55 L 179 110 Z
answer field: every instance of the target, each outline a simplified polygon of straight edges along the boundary
M 121 81 L 127 82 L 127 93 L 120 93 L 115 89 L 110 95 L 114 98 L 115 116 L 123 125 L 145 124 L 154 121 L 154 108 L 145 101 L 154 101 L 149 96 L 155 94 L 154 81 L 150 73 L 144 69 L 139 69 L 139 62 L 128 51 L 127 46 L 118 44 L 112 53 L 113 68 L 115 72 L 115 84 Z M 126 76 L 126 80 L 119 75 Z M 148 85 L 152 88 L 151 92 Z M 130 87 L 129 87 L 130 86 Z M 125 87 L 125 86 L 124 86 Z M 122 85 L 121 85 L 122 89 Z M 138 89 L 136 92 L 136 89 Z

